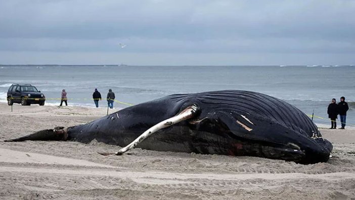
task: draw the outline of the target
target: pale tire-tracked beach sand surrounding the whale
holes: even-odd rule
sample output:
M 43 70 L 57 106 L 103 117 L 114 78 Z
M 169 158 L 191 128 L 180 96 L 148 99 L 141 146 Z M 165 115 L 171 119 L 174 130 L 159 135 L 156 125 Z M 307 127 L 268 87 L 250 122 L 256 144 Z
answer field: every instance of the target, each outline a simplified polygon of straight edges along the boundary
M 111 112 L 117 110 L 110 110 Z M 355 199 L 355 129 L 321 129 L 328 163 L 133 149 L 92 141 L 3 142 L 40 129 L 73 126 L 105 108 L 0 103 L 2 199 Z

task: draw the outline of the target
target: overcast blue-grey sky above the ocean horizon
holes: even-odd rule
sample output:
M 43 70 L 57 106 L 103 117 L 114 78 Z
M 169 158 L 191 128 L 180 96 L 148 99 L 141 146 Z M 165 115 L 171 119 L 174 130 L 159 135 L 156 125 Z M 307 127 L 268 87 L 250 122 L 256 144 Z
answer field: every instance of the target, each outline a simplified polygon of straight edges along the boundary
M 0 64 L 121 63 L 355 64 L 355 1 L 0 0 Z

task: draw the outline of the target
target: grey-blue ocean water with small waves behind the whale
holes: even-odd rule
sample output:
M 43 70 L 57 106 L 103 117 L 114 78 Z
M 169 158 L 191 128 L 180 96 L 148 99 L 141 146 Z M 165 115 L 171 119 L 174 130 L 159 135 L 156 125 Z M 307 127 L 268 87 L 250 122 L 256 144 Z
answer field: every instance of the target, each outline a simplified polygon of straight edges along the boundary
M 97 88 L 105 98 L 139 104 L 170 94 L 217 90 L 247 90 L 268 94 L 314 114 L 315 123 L 330 124 L 327 106 L 346 97 L 347 126 L 355 126 L 355 66 L 61 66 L 0 65 L 0 102 L 13 83 L 32 84 L 46 95 L 46 105 L 59 105 L 62 89 L 68 104 L 94 107 Z M 100 107 L 107 107 L 100 101 Z M 31 105 L 32 106 L 32 105 Z M 37 105 L 33 105 L 37 106 Z M 114 107 L 127 105 L 115 102 Z M 9 108 L 10 109 L 10 108 Z M 338 119 L 339 121 L 339 119 Z M 340 121 L 339 121 L 340 123 Z

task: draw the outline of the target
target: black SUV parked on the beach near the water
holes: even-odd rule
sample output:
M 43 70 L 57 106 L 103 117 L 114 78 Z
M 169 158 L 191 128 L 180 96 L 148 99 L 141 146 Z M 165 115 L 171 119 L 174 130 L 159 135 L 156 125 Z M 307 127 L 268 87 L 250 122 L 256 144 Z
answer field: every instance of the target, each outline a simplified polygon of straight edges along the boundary
M 30 84 L 13 84 L 8 90 L 8 105 L 21 103 L 21 105 L 45 105 L 46 97 L 36 87 Z

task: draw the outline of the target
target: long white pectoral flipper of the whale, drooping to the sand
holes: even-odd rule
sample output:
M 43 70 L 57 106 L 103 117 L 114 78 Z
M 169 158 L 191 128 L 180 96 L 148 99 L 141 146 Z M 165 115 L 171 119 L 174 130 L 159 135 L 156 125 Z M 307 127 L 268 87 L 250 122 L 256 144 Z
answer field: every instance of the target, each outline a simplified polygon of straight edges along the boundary
M 173 117 L 170 117 L 168 119 L 165 119 L 164 121 L 154 125 L 150 129 L 148 129 L 147 131 L 142 133 L 142 135 L 140 135 L 138 138 L 136 138 L 133 142 L 131 142 L 127 146 L 121 148 L 119 151 L 117 151 L 115 153 L 108 153 L 108 152 L 98 152 L 98 153 L 100 153 L 102 155 L 110 155 L 110 154 L 122 155 L 123 153 L 129 151 L 130 149 L 135 148 L 139 143 L 141 143 L 143 140 L 145 140 L 147 137 L 149 137 L 153 133 L 155 133 L 163 128 L 174 125 L 176 123 L 185 121 L 186 119 L 190 119 L 190 118 L 194 117 L 197 113 L 196 112 L 197 109 L 198 109 L 198 107 L 196 105 L 192 105 L 192 106 L 185 108 L 183 111 L 179 112 L 179 114 L 177 114 Z

